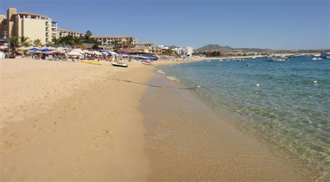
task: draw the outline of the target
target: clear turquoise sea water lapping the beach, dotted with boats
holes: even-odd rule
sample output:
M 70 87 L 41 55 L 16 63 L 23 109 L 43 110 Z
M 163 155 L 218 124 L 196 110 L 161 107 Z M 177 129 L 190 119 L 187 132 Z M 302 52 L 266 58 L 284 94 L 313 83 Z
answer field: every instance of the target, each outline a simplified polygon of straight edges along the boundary
M 212 60 L 162 70 L 183 85 L 201 85 L 194 92 L 215 112 L 228 113 L 240 129 L 298 156 L 315 179 L 329 180 L 330 59 Z

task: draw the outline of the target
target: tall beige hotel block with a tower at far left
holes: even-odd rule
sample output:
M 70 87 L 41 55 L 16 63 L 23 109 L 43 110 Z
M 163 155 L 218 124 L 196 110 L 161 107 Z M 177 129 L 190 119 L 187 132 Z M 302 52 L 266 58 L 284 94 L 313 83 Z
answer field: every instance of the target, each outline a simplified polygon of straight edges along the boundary
M 0 37 L 28 37 L 31 42 L 40 40 L 41 44 L 58 38 L 57 22 L 37 13 L 17 13 L 15 8 L 8 8 L 7 17 L 0 15 Z

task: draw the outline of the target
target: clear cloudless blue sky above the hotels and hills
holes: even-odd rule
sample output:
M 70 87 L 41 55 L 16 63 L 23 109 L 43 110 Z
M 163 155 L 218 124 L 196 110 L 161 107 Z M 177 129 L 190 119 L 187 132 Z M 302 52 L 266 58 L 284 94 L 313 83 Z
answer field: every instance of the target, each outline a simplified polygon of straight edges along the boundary
M 65 29 L 155 44 L 329 49 L 329 0 L 1 0 L 0 13 L 47 15 Z

